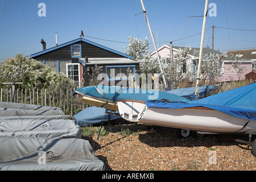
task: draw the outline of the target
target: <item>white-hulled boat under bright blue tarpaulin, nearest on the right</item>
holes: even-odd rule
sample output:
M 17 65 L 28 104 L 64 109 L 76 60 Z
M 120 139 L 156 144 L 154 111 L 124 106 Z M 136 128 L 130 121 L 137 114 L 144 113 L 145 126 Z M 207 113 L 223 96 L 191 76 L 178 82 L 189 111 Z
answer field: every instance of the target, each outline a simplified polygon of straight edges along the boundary
M 118 101 L 120 115 L 131 122 L 212 133 L 256 129 L 256 83 L 190 102 Z

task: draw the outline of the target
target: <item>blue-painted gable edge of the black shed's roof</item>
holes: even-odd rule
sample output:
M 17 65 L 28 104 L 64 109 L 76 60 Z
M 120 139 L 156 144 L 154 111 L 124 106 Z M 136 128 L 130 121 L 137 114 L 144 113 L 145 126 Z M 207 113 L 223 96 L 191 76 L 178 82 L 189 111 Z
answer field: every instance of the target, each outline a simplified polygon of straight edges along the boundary
M 88 44 L 92 44 L 93 46 L 105 49 L 106 51 L 110 51 L 110 52 L 116 53 L 117 55 L 121 55 L 121 56 L 127 57 L 129 59 L 133 59 L 132 56 L 126 55 L 125 53 L 122 53 L 122 52 L 119 52 L 119 51 L 115 51 L 114 49 L 102 46 L 102 45 L 94 43 L 94 42 L 91 42 L 90 40 L 86 40 L 84 38 L 78 38 L 78 39 L 72 40 L 70 42 L 67 42 L 67 43 L 64 43 L 64 44 L 60 44 L 59 46 L 48 48 L 46 50 L 43 50 L 43 51 L 40 51 L 40 52 L 37 52 L 37 53 L 34 53 L 34 54 L 30 55 L 30 57 L 33 58 L 33 57 L 36 57 L 36 56 L 40 56 L 40 55 L 43 55 L 44 53 L 54 51 L 56 49 L 59 49 L 61 47 L 65 47 L 65 46 L 71 45 L 71 44 L 79 42 L 79 41 L 82 41 L 82 42 L 85 42 L 85 43 L 88 43 Z

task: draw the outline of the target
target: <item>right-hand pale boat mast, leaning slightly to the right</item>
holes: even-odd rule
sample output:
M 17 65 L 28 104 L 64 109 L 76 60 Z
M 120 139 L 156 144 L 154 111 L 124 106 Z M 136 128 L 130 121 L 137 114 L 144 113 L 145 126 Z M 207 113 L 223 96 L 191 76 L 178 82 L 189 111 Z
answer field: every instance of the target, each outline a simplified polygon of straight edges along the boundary
M 197 65 L 197 75 L 196 75 L 196 88 L 195 88 L 196 96 L 198 96 L 198 86 L 199 86 L 199 80 L 200 80 L 200 67 L 201 67 L 201 60 L 202 60 L 202 53 L 203 53 L 203 46 L 204 46 L 204 33 L 205 33 L 205 24 L 207 19 L 207 10 L 208 10 L 208 0 L 205 1 L 204 22 L 203 22 L 203 29 L 202 29 L 202 35 L 201 35 L 199 62 Z

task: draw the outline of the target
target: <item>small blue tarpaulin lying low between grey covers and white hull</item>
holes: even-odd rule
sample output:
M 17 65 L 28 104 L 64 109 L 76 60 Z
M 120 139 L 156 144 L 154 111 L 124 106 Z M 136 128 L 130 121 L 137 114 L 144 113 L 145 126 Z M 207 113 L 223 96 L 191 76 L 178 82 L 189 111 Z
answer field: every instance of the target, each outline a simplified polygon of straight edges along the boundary
M 105 113 L 105 108 L 102 107 L 88 107 L 74 115 L 77 125 L 93 125 L 96 123 L 117 119 L 120 116 Z

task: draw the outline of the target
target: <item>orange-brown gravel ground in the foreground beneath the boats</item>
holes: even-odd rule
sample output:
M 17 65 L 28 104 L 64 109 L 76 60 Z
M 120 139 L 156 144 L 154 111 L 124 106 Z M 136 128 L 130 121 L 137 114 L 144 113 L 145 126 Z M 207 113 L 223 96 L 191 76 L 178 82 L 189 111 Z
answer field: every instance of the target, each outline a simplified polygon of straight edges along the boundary
M 143 124 L 118 122 L 104 124 L 106 136 L 82 137 L 89 140 L 106 171 L 256 170 L 251 147 L 233 140 L 247 141 L 247 135 L 232 135 L 222 141 L 216 135 L 177 139 L 171 128 L 152 129 Z

